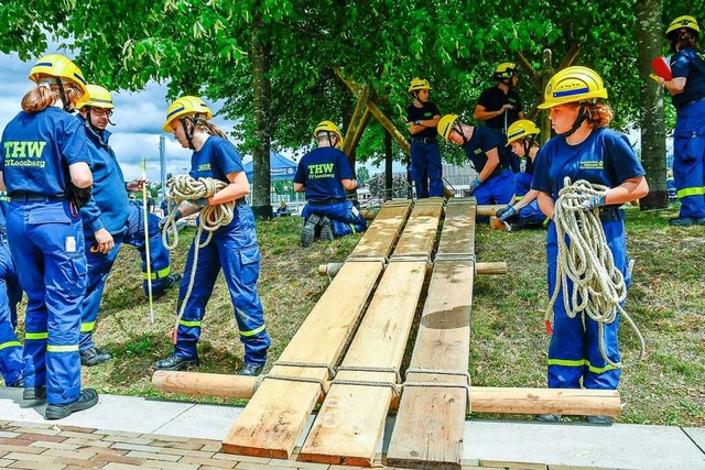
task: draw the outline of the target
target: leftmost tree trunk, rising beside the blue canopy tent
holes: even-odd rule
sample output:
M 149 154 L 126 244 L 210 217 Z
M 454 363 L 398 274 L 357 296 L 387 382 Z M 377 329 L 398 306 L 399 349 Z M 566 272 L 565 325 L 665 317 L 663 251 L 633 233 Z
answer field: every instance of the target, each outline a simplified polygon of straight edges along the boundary
M 270 83 L 269 83 L 269 45 L 260 37 L 261 19 L 254 18 L 251 26 L 252 35 L 252 107 L 254 110 L 254 138 L 257 144 L 252 151 L 252 211 L 256 218 L 272 218 L 271 182 L 270 182 Z

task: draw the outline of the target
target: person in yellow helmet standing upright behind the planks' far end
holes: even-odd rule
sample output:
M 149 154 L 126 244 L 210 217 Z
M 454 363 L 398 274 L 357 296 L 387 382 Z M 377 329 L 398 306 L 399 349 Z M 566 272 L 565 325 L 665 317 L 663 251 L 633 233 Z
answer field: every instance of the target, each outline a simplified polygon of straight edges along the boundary
M 416 198 L 443 197 L 443 164 L 436 142 L 438 107 L 429 101 L 431 85 L 425 78 L 414 78 L 409 85 L 413 102 L 406 108 L 406 124 L 411 133 L 411 179 Z

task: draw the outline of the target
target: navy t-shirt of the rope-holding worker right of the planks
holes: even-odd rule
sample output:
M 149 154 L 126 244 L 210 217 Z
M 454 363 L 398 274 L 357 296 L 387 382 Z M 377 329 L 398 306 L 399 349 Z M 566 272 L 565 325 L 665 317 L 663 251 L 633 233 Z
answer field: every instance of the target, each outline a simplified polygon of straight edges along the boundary
M 551 139 L 536 155 L 531 188 L 556 200 L 566 176 L 614 188 L 646 174 L 625 134 L 598 128 L 577 145 L 562 135 Z

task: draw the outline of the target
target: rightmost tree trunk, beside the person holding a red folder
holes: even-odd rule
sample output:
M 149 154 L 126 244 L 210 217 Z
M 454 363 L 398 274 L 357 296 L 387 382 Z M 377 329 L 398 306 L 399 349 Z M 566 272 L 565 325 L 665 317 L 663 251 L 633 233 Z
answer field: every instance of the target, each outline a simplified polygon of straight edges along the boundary
M 665 175 L 665 120 L 663 89 L 651 78 L 651 61 L 661 55 L 661 0 L 639 0 L 637 15 L 637 44 L 639 73 L 642 77 L 641 107 L 641 164 L 647 171 L 649 195 L 641 199 L 641 210 L 669 206 Z

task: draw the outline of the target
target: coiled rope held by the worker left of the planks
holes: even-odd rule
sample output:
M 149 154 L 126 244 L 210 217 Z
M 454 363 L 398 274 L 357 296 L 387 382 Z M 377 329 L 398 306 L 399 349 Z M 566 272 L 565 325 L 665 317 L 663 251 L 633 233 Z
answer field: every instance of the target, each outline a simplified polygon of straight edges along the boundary
M 166 199 L 169 201 L 169 205 L 171 206 L 175 203 L 174 208 L 166 216 L 166 222 L 162 228 L 162 241 L 164 242 L 164 247 L 166 247 L 169 251 L 174 250 L 178 244 L 178 228 L 176 227 L 176 221 L 174 220 L 174 216 L 176 215 L 178 205 L 184 200 L 194 201 L 197 199 L 210 197 L 227 185 L 227 183 L 219 179 L 194 179 L 189 175 L 176 175 L 166 182 Z M 227 226 L 232 221 L 232 217 L 235 216 L 235 205 L 236 201 L 232 200 L 230 203 L 206 206 L 200 209 L 200 212 L 198 214 L 198 230 L 196 230 L 195 236 L 194 262 L 192 264 L 191 274 L 188 277 L 188 288 L 186 289 L 186 295 L 181 303 L 181 308 L 178 310 L 178 315 L 176 316 L 176 324 L 174 325 L 174 330 L 172 334 L 172 342 L 174 345 L 176 345 L 176 332 L 178 331 L 178 324 L 183 318 L 184 311 L 186 309 L 186 302 L 188 300 L 188 297 L 191 297 L 191 293 L 194 288 L 196 269 L 198 266 L 198 250 L 210 242 L 214 231 L 216 231 L 220 227 Z M 208 232 L 208 237 L 202 243 L 200 236 L 204 231 Z

